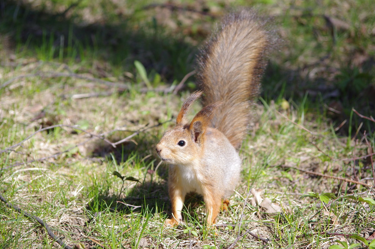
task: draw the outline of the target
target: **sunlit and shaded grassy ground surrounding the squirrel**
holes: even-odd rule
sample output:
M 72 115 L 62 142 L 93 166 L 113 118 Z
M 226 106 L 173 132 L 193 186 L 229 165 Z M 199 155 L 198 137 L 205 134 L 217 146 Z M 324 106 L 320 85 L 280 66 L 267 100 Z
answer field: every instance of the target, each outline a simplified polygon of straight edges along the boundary
M 374 184 L 371 157 L 359 157 L 374 150 L 375 123 L 352 111 L 374 115 L 370 0 L 168 2 L 182 10 L 170 10 L 164 1 L 150 7 L 154 2 L 98 0 L 64 13 L 72 3 L 0 6 L 0 86 L 14 79 L 0 88 L 0 150 L 56 124 L 104 133 L 111 142 L 141 132 L 116 148 L 71 127 L 35 134 L 0 154 L 0 194 L 10 203 L 43 219 L 70 246 L 81 242 L 86 248 L 228 248 L 236 239 L 234 248 L 264 248 L 255 237 L 242 236 L 249 229 L 269 239 L 268 248 L 326 249 L 344 240 L 337 234 L 367 238 L 375 231 L 373 189 L 302 171 Z M 218 218 L 237 227 L 219 227 L 215 235 L 202 222 L 202 199 L 193 195 L 185 203 L 185 223 L 164 228 L 168 170 L 157 167 L 154 145 L 196 86 L 192 77 L 177 95 L 152 89 L 169 89 L 191 72 L 214 22 L 239 6 L 272 15 L 284 42 L 263 78 L 231 209 Z M 332 26 L 327 18 L 344 24 L 334 20 Z M 15 78 L 22 75 L 28 76 Z M 75 98 L 86 93 L 102 95 Z M 114 171 L 139 182 L 123 181 Z M 282 211 L 267 212 L 251 193 L 245 203 L 252 188 Z M 303 197 L 309 191 L 314 194 Z M 325 192 L 335 197 L 322 201 Z M 3 204 L 0 216 L 0 248 L 59 248 L 39 224 Z M 365 247 L 350 237 L 346 242 Z

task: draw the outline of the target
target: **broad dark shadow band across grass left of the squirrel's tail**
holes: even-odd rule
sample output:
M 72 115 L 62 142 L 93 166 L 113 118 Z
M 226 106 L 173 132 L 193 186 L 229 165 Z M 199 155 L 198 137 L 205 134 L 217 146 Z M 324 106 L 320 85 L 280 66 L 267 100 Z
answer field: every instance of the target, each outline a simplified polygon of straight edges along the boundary
M 131 27 L 129 20 L 133 16 L 114 13 L 112 8 L 115 6 L 111 6 L 110 1 L 102 4 L 109 4 L 109 7 L 101 6 L 105 18 L 120 21 L 113 24 L 102 20 L 84 25 L 74 12 L 67 13 L 69 9 L 51 14 L 46 8 L 36 9 L 26 1 L 3 0 L 0 33 L 9 37 L 12 50 L 29 50 L 41 60 L 59 58 L 80 62 L 100 58 L 124 70 L 139 60 L 146 69 L 153 69 L 167 81 L 182 79 L 192 70 L 194 47 L 181 38 L 165 36 L 162 27 L 155 23 Z M 71 6 L 72 9 L 77 7 Z M 105 70 L 93 70 L 92 73 L 107 76 Z

